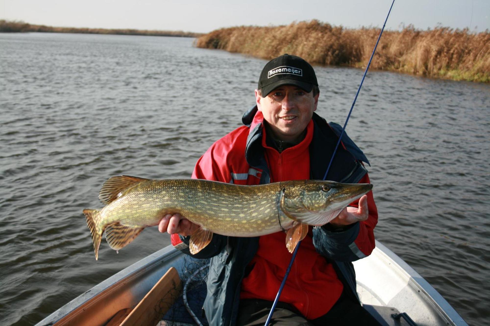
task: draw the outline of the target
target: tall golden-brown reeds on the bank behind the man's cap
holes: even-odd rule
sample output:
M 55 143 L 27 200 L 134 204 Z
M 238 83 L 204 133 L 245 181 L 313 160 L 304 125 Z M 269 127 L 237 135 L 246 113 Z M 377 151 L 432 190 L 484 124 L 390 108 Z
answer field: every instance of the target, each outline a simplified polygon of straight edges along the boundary
M 284 53 L 311 64 L 365 68 L 380 28 L 349 29 L 317 20 L 282 26 L 221 28 L 198 37 L 197 47 L 263 59 Z M 370 68 L 426 77 L 490 82 L 490 32 L 449 27 L 385 30 Z

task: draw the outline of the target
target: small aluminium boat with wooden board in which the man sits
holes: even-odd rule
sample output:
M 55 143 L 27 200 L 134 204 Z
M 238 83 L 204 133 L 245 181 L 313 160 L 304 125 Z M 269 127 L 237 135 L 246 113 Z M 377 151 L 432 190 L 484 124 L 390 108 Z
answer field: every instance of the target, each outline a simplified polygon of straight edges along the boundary
M 194 300 L 194 307 L 189 302 L 197 292 L 205 295 L 203 277 L 196 276 L 206 273 L 207 264 L 207 260 L 194 259 L 170 245 L 102 281 L 36 326 L 205 324 L 200 311 L 204 297 Z M 354 267 L 359 299 L 380 325 L 467 325 L 425 279 L 379 241 L 371 255 L 355 261 Z M 189 291 L 189 284 L 194 283 L 197 285 Z M 163 308 L 162 296 L 167 300 Z M 170 314 L 173 306 L 182 304 L 179 301 L 190 314 Z M 148 311 L 158 320 L 144 322 L 138 317 Z M 175 318 L 180 318 L 178 323 Z

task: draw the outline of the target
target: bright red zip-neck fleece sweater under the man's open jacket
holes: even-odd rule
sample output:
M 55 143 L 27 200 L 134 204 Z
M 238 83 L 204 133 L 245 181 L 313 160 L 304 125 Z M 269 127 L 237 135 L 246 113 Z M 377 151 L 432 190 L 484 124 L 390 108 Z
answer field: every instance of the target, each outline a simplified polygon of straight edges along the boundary
M 266 149 L 270 182 L 310 179 L 309 145 L 313 137 L 313 121 L 308 124 L 305 139 L 282 153 L 267 146 L 266 137 L 264 131 L 262 145 Z M 240 298 L 274 301 L 292 256 L 286 249 L 285 241 L 286 234 L 283 232 L 259 238 L 259 249 L 249 264 L 253 269 L 242 281 Z M 332 265 L 316 252 L 310 227 L 308 235 L 301 242 L 279 301 L 294 305 L 307 319 L 315 319 L 330 310 L 342 289 L 343 284 Z

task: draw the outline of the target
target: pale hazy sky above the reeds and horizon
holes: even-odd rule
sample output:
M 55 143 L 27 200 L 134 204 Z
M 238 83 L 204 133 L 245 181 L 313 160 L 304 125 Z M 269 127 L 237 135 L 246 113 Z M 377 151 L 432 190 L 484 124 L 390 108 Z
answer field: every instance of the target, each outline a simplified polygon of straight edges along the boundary
M 183 30 L 317 19 L 336 26 L 383 26 L 392 0 L 0 0 L 0 19 L 50 26 Z M 490 0 L 395 0 L 387 29 L 413 24 L 490 29 Z

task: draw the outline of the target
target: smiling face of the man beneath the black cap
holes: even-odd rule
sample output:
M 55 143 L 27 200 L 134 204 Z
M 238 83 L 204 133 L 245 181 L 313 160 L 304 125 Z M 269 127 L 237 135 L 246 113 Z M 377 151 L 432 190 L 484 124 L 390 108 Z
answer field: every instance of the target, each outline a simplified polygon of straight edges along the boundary
M 317 110 L 318 96 L 297 86 L 279 86 L 266 97 L 255 90 L 257 108 L 269 123 L 277 140 L 297 141 Z

